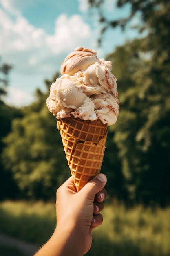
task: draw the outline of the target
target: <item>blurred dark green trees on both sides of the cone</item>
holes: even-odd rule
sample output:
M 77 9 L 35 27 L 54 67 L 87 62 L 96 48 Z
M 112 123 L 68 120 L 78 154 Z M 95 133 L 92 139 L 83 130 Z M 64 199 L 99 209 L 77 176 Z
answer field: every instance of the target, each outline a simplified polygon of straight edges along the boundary
M 141 23 L 134 27 L 144 36 L 126 41 L 104 56 L 112 61 L 117 77 L 120 113 L 108 127 L 101 172 L 108 182 L 109 200 L 127 206 L 166 207 L 170 200 L 170 2 L 166 0 L 119 0 L 131 4 L 127 19 L 107 20 L 104 1 L 89 0 L 97 9 L 102 37 L 108 28 L 122 33 L 135 13 Z M 2 100 L 11 67 L 0 63 L 0 200 L 55 200 L 57 188 L 71 175 L 57 119 L 46 107 L 51 83 L 60 71 L 44 80 L 29 106 L 15 108 Z

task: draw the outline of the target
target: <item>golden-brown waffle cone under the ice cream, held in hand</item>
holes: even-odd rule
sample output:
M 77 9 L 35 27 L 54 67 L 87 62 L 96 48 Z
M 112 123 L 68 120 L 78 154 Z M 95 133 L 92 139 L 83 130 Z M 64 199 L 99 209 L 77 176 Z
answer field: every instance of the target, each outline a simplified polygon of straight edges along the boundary
M 107 138 L 107 124 L 101 120 L 67 117 L 57 121 L 68 166 L 77 192 L 100 173 Z

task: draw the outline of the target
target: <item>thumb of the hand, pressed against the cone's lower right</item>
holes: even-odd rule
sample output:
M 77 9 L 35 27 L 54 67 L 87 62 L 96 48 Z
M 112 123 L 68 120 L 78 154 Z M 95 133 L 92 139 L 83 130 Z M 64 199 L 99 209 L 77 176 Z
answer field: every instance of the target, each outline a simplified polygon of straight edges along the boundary
M 89 181 L 79 192 L 94 197 L 106 185 L 107 178 L 103 173 L 99 173 L 91 181 Z

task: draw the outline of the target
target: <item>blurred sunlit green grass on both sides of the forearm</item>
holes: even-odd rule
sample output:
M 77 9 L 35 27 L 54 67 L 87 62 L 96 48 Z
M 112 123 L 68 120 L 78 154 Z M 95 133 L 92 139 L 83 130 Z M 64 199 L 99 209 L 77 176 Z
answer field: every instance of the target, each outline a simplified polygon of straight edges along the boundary
M 170 208 L 106 204 L 86 256 L 169 256 Z M 55 229 L 55 204 L 1 202 L 0 232 L 42 245 Z

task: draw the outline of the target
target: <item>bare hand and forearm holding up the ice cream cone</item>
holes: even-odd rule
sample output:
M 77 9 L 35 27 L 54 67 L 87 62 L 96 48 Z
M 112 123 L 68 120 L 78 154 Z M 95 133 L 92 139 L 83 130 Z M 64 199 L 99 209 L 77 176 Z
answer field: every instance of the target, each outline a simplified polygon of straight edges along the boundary
M 102 173 L 78 193 L 70 177 L 57 189 L 57 226 L 49 241 L 34 256 L 83 256 L 91 247 L 92 230 L 103 222 L 99 213 L 107 197 Z

